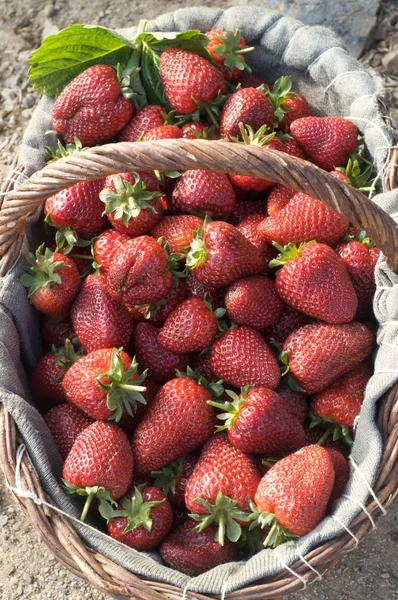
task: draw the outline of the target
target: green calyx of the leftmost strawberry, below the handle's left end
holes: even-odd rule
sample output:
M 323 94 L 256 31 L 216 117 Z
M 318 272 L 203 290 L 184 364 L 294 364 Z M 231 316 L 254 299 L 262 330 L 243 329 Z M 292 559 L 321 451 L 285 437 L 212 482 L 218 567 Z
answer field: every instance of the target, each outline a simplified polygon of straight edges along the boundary
M 31 299 L 42 287 L 61 285 L 62 280 L 57 273 L 67 265 L 61 260 L 54 260 L 54 255 L 49 248 L 43 252 L 44 244 L 36 250 L 36 256 L 29 252 L 25 258 L 29 266 L 23 267 L 20 282 L 29 288 L 28 297 Z

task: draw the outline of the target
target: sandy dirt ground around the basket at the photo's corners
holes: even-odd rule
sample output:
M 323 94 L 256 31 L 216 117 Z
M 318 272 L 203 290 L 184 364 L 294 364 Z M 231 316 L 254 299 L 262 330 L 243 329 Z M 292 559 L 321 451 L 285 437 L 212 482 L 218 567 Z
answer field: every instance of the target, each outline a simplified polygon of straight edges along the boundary
M 329 0 L 334 1 L 334 0 Z M 337 0 L 336 0 L 337 1 Z M 245 0 L 218 0 L 219 6 Z M 37 96 L 27 83 L 26 60 L 54 27 L 73 22 L 127 26 L 182 6 L 215 4 L 212 0 L 0 0 L 0 179 L 22 139 Z M 398 5 L 386 1 L 362 61 L 379 70 L 386 100 L 398 121 L 398 60 L 386 60 L 397 49 Z M 387 67 L 387 68 L 385 68 Z M 0 475 L 0 598 L 2 600 L 102 600 L 104 596 L 74 579 L 48 554 L 26 517 L 14 504 Z M 293 598 L 293 597 L 292 597 Z M 398 599 L 398 502 L 377 530 L 348 555 L 323 581 L 294 596 L 297 600 Z

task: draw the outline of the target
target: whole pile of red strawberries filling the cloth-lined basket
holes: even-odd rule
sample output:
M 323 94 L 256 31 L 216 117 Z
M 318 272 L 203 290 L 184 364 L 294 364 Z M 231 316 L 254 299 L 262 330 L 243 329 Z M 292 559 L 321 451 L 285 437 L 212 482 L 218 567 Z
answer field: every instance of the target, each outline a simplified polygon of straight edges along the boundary
M 111 66 L 75 77 L 53 156 L 115 136 L 222 139 L 366 188 L 350 121 L 251 74 L 239 32 L 206 35 L 208 58 L 160 55 L 171 113 L 136 111 Z M 189 574 L 310 532 L 348 480 L 370 377 L 366 233 L 306 194 L 201 169 L 81 181 L 44 214 L 53 234 L 21 277 L 47 352 L 32 392 L 82 519 L 99 512 Z

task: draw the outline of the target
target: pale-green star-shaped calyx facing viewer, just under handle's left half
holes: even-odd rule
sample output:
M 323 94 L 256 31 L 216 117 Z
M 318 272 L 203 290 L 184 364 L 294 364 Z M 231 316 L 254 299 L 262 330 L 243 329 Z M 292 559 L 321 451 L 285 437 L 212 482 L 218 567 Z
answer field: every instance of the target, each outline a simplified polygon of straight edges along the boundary
M 112 213 L 113 217 L 121 220 L 123 225 L 128 227 L 130 219 L 135 219 L 140 214 L 141 210 L 150 210 L 156 213 L 153 206 L 153 201 L 160 198 L 160 192 L 150 192 L 143 181 L 141 181 L 138 173 L 134 173 L 135 183 L 122 179 L 120 175 L 114 175 L 112 180 L 116 188 L 116 192 L 110 188 L 104 188 L 100 192 L 100 199 L 105 204 L 105 215 Z

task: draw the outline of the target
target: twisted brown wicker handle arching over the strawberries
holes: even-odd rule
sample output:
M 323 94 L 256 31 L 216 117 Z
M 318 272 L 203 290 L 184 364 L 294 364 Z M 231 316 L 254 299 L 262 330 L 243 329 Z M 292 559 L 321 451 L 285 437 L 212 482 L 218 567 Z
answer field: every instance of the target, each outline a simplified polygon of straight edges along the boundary
M 119 142 L 72 154 L 22 183 L 4 199 L 0 212 L 0 259 L 10 266 L 20 253 L 25 221 L 46 198 L 83 179 L 123 171 L 209 169 L 264 177 L 321 200 L 366 229 L 398 271 L 398 230 L 393 219 L 361 192 L 312 163 L 284 152 L 221 141 L 167 139 Z

